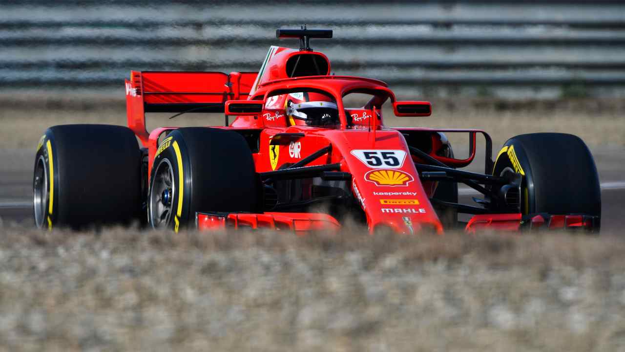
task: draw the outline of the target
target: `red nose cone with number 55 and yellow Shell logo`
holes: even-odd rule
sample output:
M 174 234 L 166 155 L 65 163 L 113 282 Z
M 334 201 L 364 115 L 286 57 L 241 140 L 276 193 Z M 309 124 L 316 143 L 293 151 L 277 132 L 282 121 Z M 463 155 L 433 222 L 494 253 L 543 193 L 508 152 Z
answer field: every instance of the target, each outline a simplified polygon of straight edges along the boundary
M 352 130 L 326 135 L 332 135 L 332 148 L 347 164 L 346 171 L 352 175 L 352 194 L 364 210 L 371 232 L 390 227 L 402 234 L 426 230 L 442 233 L 442 224 L 401 133 Z

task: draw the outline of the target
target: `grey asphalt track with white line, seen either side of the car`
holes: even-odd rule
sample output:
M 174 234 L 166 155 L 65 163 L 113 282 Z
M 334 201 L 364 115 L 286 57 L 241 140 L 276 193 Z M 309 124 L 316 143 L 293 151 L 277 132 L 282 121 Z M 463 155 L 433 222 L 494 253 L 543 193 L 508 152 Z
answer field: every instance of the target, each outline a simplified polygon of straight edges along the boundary
M 620 233 L 625 228 L 625 147 L 591 148 L 601 180 L 602 232 Z M 483 172 L 476 165 L 467 168 Z M 4 225 L 31 226 L 32 168 L 34 150 L 0 150 L 0 222 Z M 582 170 L 580 170 L 582 172 Z M 471 197 L 479 196 L 472 189 L 459 189 L 460 202 L 472 204 Z M 461 220 L 467 220 L 462 217 Z

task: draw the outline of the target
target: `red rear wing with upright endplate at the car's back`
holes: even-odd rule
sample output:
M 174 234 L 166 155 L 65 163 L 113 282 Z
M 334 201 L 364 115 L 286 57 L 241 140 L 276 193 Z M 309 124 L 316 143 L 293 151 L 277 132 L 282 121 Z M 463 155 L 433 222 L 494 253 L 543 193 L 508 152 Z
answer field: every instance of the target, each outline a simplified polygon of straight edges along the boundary
M 256 72 L 131 71 L 126 80 L 128 127 L 147 145 L 149 112 L 223 112 L 226 100 L 247 99 Z

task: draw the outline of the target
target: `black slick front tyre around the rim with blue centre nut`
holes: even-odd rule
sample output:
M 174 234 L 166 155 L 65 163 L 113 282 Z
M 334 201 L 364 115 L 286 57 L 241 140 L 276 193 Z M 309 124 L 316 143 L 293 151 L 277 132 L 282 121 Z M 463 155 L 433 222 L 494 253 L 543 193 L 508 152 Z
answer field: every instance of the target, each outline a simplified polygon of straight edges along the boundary
M 236 132 L 188 127 L 169 133 L 154 157 L 148 222 L 194 227 L 196 212 L 258 212 L 262 192 L 252 153 Z

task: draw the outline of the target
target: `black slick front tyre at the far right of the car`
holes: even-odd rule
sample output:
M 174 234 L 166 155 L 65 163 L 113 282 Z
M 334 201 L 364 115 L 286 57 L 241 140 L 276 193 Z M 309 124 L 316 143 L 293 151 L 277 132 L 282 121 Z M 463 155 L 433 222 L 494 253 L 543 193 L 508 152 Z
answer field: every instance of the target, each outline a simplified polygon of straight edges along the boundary
M 522 175 L 522 214 L 601 215 L 601 189 L 594 160 L 579 137 L 530 133 L 512 137 L 499 151 L 493 175 Z

